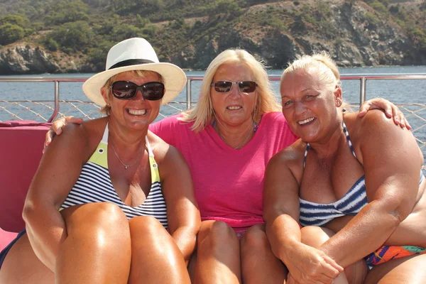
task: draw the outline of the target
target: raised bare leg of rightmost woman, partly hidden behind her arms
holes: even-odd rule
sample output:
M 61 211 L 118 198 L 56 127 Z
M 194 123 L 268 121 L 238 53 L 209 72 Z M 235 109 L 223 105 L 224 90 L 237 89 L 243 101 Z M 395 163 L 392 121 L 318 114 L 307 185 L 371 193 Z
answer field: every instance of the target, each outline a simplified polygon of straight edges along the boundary
M 325 241 L 327 241 L 334 232 L 319 226 L 305 226 L 301 230 L 302 232 L 302 243 L 319 248 Z M 364 282 L 364 278 L 368 271 L 366 262 L 361 259 L 344 268 L 344 273 L 340 273 L 339 276 L 334 280 L 334 284 L 361 284 Z

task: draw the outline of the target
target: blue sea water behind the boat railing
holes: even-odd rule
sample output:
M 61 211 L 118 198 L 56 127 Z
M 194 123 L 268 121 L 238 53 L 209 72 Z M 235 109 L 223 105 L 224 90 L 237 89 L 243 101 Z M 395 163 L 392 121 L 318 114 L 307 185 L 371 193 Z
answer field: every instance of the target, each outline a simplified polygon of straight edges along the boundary
M 405 67 L 359 67 L 340 68 L 342 75 L 389 75 L 389 74 L 422 74 L 426 75 L 426 66 L 405 66 Z M 187 77 L 201 77 L 202 71 L 188 71 Z M 270 75 L 279 76 L 282 70 L 269 70 Z M 45 78 L 88 78 L 93 74 L 66 74 L 66 75 L 24 75 L 10 77 L 45 77 Z M 10 78 L 9 77 L 9 78 Z M 0 79 L 8 76 L 0 76 Z M 61 82 L 60 99 L 65 101 L 89 101 L 82 92 L 82 82 Z M 272 82 L 275 94 L 279 94 L 279 82 Z M 196 103 L 201 81 L 192 81 L 191 101 Z M 350 104 L 359 104 L 360 82 L 359 80 L 342 80 L 343 97 Z M 53 113 L 53 104 L 43 102 L 42 105 L 22 102 L 11 103 L 10 101 L 51 101 L 54 99 L 53 82 L 0 82 L 0 121 L 13 119 L 32 119 L 45 121 Z M 185 109 L 186 88 L 175 99 L 182 104 L 173 107 L 162 107 L 160 116 L 175 114 L 179 109 Z M 410 124 L 413 126 L 419 146 L 426 156 L 426 80 L 368 80 L 366 82 L 366 99 L 373 97 L 383 97 L 395 104 L 420 104 L 402 107 L 403 112 L 408 116 Z M 47 107 L 51 107 L 51 109 Z M 28 109 L 26 109 L 28 107 Z M 78 111 L 77 109 L 80 109 Z M 31 112 L 33 111 L 33 112 Z M 43 116 L 42 119 L 40 116 Z M 60 115 L 73 115 L 84 117 L 99 116 L 97 109 L 87 109 L 87 105 L 79 103 L 60 104 Z

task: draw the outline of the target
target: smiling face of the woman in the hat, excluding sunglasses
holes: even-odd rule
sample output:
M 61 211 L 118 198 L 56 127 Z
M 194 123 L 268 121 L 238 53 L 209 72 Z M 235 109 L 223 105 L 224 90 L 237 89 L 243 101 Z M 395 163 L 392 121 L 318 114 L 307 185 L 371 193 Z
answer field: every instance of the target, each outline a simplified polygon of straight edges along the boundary
M 117 81 L 129 81 L 140 86 L 148 82 L 159 82 L 160 76 L 155 72 L 147 72 L 145 77 L 139 77 L 134 72 L 122 72 L 116 75 L 111 84 Z M 160 111 L 161 100 L 144 99 L 140 90 L 133 99 L 117 99 L 111 94 L 111 87 L 109 89 L 102 87 L 101 92 L 105 102 L 111 105 L 111 118 L 132 129 L 148 127 Z

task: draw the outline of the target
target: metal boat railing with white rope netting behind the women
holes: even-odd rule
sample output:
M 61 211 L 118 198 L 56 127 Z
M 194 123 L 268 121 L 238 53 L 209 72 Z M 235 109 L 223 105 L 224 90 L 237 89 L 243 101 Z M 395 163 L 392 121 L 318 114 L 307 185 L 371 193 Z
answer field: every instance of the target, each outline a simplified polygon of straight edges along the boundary
M 79 116 L 84 119 L 93 119 L 102 116 L 97 104 L 80 100 L 61 100 L 60 83 L 84 82 L 88 78 L 63 78 L 63 77 L 0 77 L 0 82 L 52 82 L 54 84 L 54 98 L 52 100 L 1 100 L 0 122 L 5 120 L 35 120 L 51 122 L 62 116 Z M 192 83 L 202 81 L 203 76 L 187 78 L 185 101 L 172 101 L 161 107 L 157 120 L 178 114 L 193 107 Z M 269 80 L 279 81 L 279 75 L 270 75 Z M 367 82 L 370 80 L 426 80 L 426 74 L 386 74 L 386 75 L 341 75 L 341 80 L 359 81 L 359 104 L 366 100 Z M 424 95 L 422 95 L 424 96 Z M 0 97 L 1 98 L 1 97 Z M 358 107 L 359 104 L 353 104 Z M 397 104 L 412 124 L 412 132 L 418 145 L 426 156 L 426 104 L 410 103 Z M 426 170 L 426 163 L 423 165 Z

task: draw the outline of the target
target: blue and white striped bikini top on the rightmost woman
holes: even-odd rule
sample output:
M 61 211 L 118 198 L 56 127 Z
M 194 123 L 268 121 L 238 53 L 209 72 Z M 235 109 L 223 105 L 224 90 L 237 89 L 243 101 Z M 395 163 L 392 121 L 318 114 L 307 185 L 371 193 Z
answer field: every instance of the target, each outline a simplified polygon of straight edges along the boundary
M 348 130 L 346 125 L 342 122 L 343 131 L 348 141 L 349 147 L 351 148 L 352 154 L 356 158 L 354 148 L 349 138 Z M 303 158 L 303 168 L 306 164 L 307 151 L 309 151 L 310 145 L 307 144 L 305 157 Z M 420 170 L 420 183 L 425 177 Z M 368 203 L 366 195 L 366 180 L 363 175 L 351 189 L 346 192 L 346 195 L 336 202 L 329 204 L 320 204 L 315 202 L 309 202 L 307 200 L 300 201 L 300 219 L 299 222 L 302 226 L 322 226 L 332 221 L 337 217 L 344 215 L 356 215 L 366 204 Z

